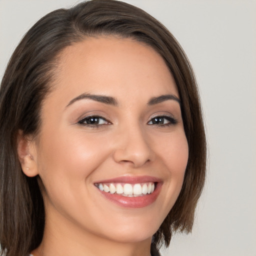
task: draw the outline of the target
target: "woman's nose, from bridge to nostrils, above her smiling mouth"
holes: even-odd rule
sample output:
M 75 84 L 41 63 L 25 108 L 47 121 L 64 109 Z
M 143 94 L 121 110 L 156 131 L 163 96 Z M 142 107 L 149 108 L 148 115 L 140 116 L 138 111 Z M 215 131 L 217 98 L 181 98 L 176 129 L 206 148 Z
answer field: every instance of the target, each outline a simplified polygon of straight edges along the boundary
M 139 127 L 125 128 L 116 137 L 115 162 L 140 167 L 153 160 L 153 151 L 145 132 Z

